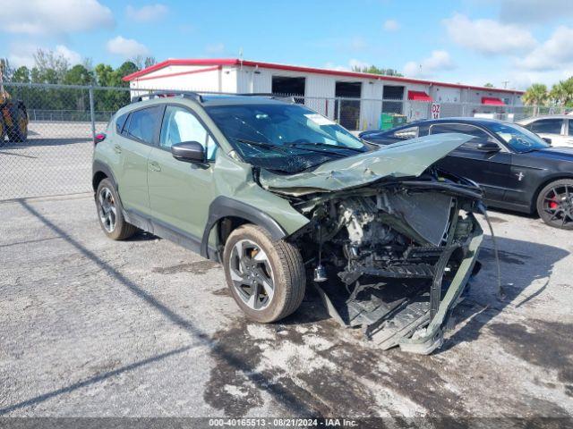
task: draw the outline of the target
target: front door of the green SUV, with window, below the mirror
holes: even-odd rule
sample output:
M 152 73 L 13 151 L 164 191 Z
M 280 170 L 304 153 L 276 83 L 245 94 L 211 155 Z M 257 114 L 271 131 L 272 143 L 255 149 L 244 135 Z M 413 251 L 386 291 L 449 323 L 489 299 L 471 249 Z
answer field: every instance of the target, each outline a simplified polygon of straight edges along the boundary
M 205 147 L 207 162 L 178 161 L 171 147 L 184 141 L 197 141 Z M 210 133 L 186 107 L 167 105 L 159 146 L 148 159 L 148 185 L 151 213 L 160 223 L 201 239 L 209 205 L 214 194 L 213 163 L 215 142 Z

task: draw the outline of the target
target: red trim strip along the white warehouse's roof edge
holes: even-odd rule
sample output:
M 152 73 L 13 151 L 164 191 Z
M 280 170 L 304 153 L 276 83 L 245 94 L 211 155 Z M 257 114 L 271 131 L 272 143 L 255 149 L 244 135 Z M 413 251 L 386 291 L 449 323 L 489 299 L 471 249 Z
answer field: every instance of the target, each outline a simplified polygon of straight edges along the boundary
M 259 67 L 261 69 L 274 69 L 274 70 L 286 70 L 286 71 L 302 71 L 306 73 L 318 73 L 318 74 L 329 74 L 334 76 L 345 76 L 349 78 L 363 78 L 363 79 L 370 79 L 370 80 L 388 80 L 392 82 L 402 82 L 402 83 L 417 83 L 421 85 L 440 85 L 441 87 L 450 87 L 450 88 L 468 88 L 468 89 L 476 89 L 476 90 L 483 90 L 483 91 L 500 91 L 500 92 L 508 92 L 511 94 L 523 94 L 523 91 L 517 91 L 517 89 L 503 89 L 503 88 L 488 88 L 488 87 L 475 87 L 472 85 L 462 85 L 459 83 L 447 83 L 447 82 L 438 82 L 435 80 L 420 80 L 420 79 L 412 79 L 412 78 L 398 78 L 396 76 L 382 76 L 380 74 L 372 74 L 372 73 L 362 73 L 358 71 L 340 71 L 340 70 L 331 70 L 331 69 L 319 69 L 315 67 L 304 67 L 298 65 L 287 65 L 287 64 L 278 64 L 278 63 L 263 63 L 260 61 L 249 61 L 249 60 L 239 60 L 237 58 L 198 58 L 198 59 L 169 59 L 163 61 L 161 63 L 157 63 L 151 65 L 140 71 L 135 71 L 132 74 L 128 74 L 123 78 L 124 81 L 129 80 L 136 80 L 141 76 L 144 76 L 151 71 L 158 71 L 164 69 L 170 65 L 228 65 L 228 66 L 240 66 L 244 65 L 245 67 Z

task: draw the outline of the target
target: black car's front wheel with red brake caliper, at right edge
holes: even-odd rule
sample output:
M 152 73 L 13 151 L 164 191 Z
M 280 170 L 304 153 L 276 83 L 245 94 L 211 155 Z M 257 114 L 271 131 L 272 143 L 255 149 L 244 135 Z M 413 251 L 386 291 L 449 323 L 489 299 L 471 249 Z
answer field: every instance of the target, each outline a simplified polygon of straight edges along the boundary
M 573 180 L 553 181 L 541 189 L 537 213 L 553 228 L 573 230 Z

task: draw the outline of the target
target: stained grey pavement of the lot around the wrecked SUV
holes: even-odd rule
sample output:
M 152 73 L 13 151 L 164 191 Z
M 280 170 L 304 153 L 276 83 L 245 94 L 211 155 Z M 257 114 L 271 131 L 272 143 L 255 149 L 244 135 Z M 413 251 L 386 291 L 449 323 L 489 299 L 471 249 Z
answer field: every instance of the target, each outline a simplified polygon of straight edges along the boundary
M 431 356 L 381 351 L 307 292 L 247 321 L 222 269 L 107 240 L 84 194 L 0 203 L 0 415 L 571 416 L 573 240 L 492 212 L 483 270 Z

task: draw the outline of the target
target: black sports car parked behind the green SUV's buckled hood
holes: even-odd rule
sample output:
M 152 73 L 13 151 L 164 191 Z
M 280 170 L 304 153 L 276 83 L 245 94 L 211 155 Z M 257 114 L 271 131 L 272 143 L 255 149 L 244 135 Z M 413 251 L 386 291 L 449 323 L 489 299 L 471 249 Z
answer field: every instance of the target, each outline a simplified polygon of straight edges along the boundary
M 536 212 L 551 226 L 573 229 L 573 148 L 551 147 L 520 125 L 443 118 L 411 122 L 392 130 L 364 131 L 360 137 L 390 145 L 446 132 L 475 138 L 441 159 L 438 167 L 478 183 L 489 206 Z

